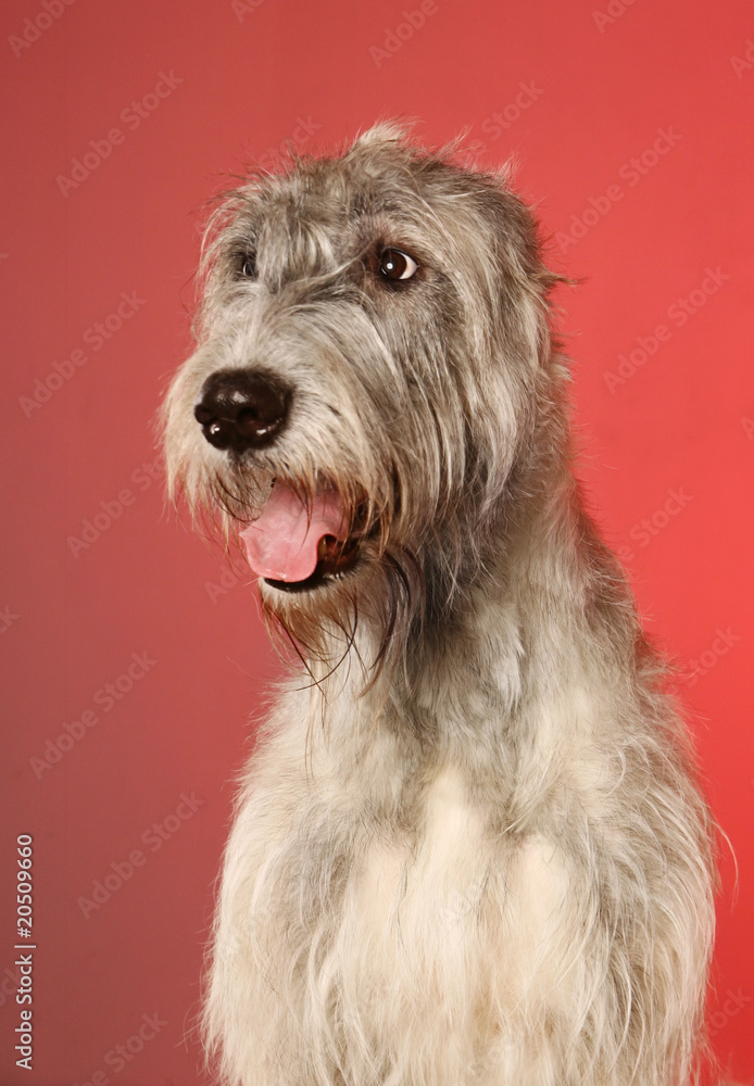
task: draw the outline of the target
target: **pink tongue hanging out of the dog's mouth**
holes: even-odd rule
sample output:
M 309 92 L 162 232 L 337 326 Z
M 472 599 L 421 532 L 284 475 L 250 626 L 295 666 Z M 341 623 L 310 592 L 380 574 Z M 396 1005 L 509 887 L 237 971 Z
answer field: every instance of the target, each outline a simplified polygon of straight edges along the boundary
M 314 495 L 311 508 L 288 487 L 276 483 L 262 515 L 241 532 L 249 565 L 257 577 L 303 581 L 314 572 L 319 540 L 344 539 L 345 510 L 335 491 Z

